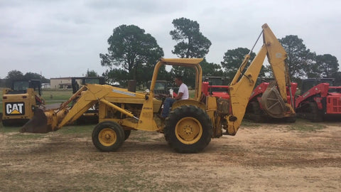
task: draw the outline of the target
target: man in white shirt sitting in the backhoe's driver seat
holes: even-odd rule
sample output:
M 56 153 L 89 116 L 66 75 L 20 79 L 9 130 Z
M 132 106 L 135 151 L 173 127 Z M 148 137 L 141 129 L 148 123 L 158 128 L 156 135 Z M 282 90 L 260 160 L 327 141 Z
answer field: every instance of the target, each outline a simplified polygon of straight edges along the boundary
M 177 76 L 175 78 L 176 85 L 179 86 L 178 95 L 175 98 L 167 97 L 165 102 L 163 102 L 163 110 L 161 112 L 161 117 L 166 118 L 168 117 L 169 110 L 171 109 L 173 103 L 176 100 L 187 100 L 188 99 L 188 87 L 183 83 L 183 78 Z

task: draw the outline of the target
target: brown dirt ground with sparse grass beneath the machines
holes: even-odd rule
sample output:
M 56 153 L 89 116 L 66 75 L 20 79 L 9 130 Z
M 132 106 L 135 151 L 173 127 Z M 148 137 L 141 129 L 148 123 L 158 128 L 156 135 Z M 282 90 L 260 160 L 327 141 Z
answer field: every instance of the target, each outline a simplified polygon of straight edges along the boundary
M 198 154 L 177 154 L 154 132 L 132 132 L 110 153 L 91 129 L 0 132 L 0 191 L 341 191 L 340 122 L 323 124 L 242 126 Z

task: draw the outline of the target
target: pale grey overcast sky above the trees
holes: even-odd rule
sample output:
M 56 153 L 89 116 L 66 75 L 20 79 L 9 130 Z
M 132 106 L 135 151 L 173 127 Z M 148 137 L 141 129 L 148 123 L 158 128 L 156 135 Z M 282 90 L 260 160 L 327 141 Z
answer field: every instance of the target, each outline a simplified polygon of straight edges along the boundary
M 251 49 L 264 23 L 277 38 L 296 35 L 312 52 L 341 63 L 340 0 L 0 0 L 0 78 L 11 70 L 45 78 L 82 76 L 87 69 L 102 75 L 107 68 L 99 53 L 107 53 L 107 39 L 122 24 L 143 28 L 165 58 L 176 58 L 169 32 L 181 17 L 197 21 L 212 42 L 210 63 L 220 63 L 229 49 Z

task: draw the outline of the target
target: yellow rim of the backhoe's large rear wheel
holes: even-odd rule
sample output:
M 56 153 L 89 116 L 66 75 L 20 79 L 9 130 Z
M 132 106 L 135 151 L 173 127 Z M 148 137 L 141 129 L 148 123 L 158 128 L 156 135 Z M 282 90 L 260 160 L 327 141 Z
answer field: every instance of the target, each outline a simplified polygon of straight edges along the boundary
M 195 144 L 202 137 L 202 126 L 193 117 L 185 117 L 175 126 L 175 136 L 183 144 Z

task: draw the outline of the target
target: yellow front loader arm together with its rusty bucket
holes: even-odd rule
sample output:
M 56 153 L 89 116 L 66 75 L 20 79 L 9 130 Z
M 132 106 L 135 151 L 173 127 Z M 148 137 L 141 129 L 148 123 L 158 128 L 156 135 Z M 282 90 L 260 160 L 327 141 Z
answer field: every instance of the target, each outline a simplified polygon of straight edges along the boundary
M 56 131 L 65 126 L 65 124 L 74 122 L 97 102 L 102 102 L 114 110 L 126 114 L 128 117 L 134 117 L 131 112 L 108 101 L 113 98 L 145 100 L 145 95 L 129 92 L 109 85 L 87 84 L 75 92 L 75 94 L 60 105 L 58 109 L 47 110 L 45 112 L 36 109 L 38 112 L 35 112 L 33 118 L 21 128 L 21 132 L 45 133 Z M 75 103 L 72 107 L 69 107 L 70 103 L 74 101 Z M 134 118 L 138 119 L 137 117 Z

